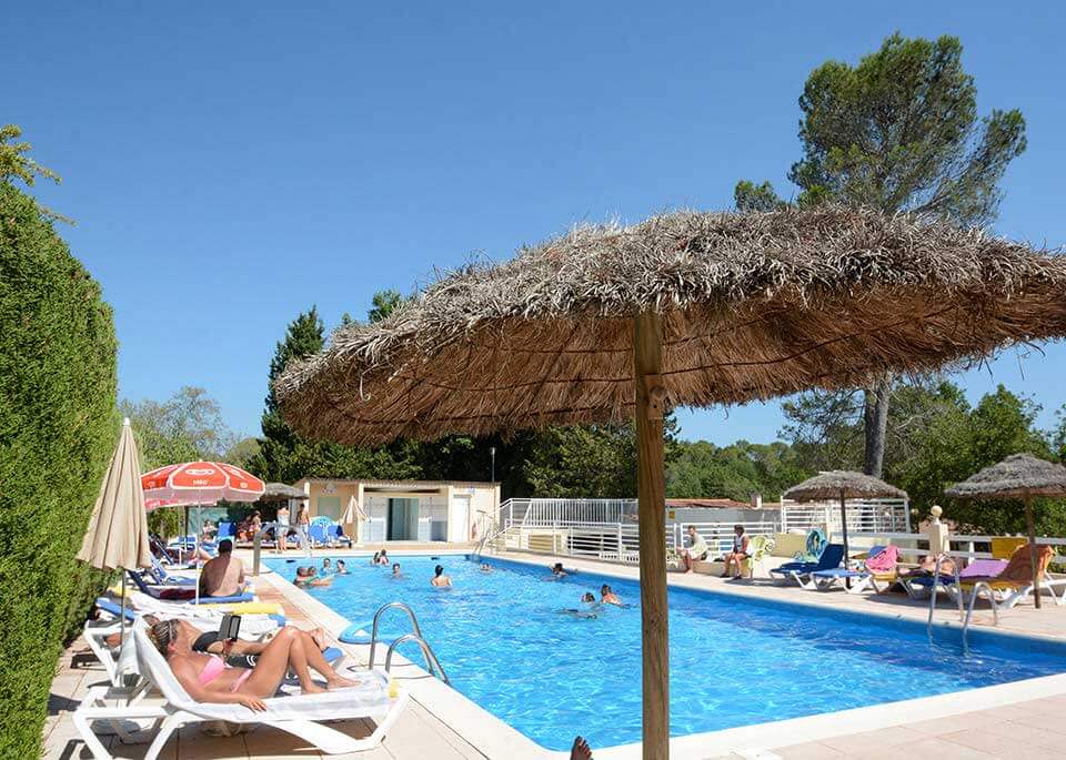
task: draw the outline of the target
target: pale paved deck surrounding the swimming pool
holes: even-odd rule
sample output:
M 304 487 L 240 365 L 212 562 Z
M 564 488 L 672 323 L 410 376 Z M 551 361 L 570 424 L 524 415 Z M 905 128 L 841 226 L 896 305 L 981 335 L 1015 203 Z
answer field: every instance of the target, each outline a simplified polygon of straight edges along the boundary
M 390 549 L 398 554 L 406 549 Z M 438 548 L 439 553 L 449 549 Z M 342 556 L 344 551 L 331 551 Z M 362 554 L 355 551 L 351 554 Z M 245 561 L 250 553 L 242 554 Z M 269 556 L 269 555 L 266 555 Z M 547 555 L 509 553 L 503 558 L 547 565 L 563 561 L 569 567 L 590 572 L 637 578 L 635 567 L 579 560 Z M 728 581 L 704 575 L 670 575 L 671 585 L 721 591 L 762 599 L 801 601 L 808 605 L 855 610 L 869 616 L 887 616 L 925 621 L 928 605 L 904 595 L 848 595 L 843 591 L 816 592 L 783 587 L 768 580 Z M 301 627 L 323 625 L 339 632 L 341 620 L 315 599 L 295 589 L 274 574 L 263 574 L 255 581 L 257 594 L 264 601 L 280 604 L 289 621 Z M 1032 602 L 1019 605 L 1000 615 L 998 630 L 1019 636 L 1066 640 L 1066 606 L 1059 607 L 1045 597 L 1042 610 Z M 937 626 L 957 625 L 957 608 L 943 601 L 935 614 Z M 988 629 L 992 615 L 975 615 L 974 626 Z M 1022 642 L 1024 645 L 1024 642 Z M 365 647 L 344 647 L 348 662 L 365 662 Z M 446 667 L 446 663 L 445 663 Z M 529 740 L 461 698 L 421 668 L 401 661 L 398 678 L 412 693 L 410 707 L 400 717 L 378 749 L 340 758 L 366 760 L 452 760 L 454 758 L 560 758 L 560 753 L 539 750 Z M 104 680 L 102 667 L 88 647 L 76 640 L 60 659 L 52 683 L 49 718 L 44 729 L 44 757 L 91 757 L 78 738 L 70 712 L 92 683 Z M 891 751 L 905 758 L 1045 758 L 1062 754 L 1066 746 L 1066 676 L 1052 676 L 1015 685 L 990 687 L 967 692 L 965 698 L 932 698 L 894 705 L 849 710 L 832 716 L 768 723 L 755 729 L 735 729 L 717 734 L 675 739 L 672 757 L 687 758 L 853 758 L 871 752 Z M 364 721 L 335 723 L 352 736 L 366 736 L 372 726 Z M 150 739 L 150 737 L 147 737 Z M 147 744 L 122 744 L 110 741 L 115 757 L 140 758 Z M 595 749 L 595 748 L 594 748 Z M 301 740 L 276 729 L 259 726 L 230 738 L 210 737 L 197 728 L 183 728 L 164 748 L 169 760 L 211 758 L 215 760 L 265 758 L 318 758 L 320 753 Z M 599 760 L 625 760 L 640 757 L 634 746 L 595 752 Z

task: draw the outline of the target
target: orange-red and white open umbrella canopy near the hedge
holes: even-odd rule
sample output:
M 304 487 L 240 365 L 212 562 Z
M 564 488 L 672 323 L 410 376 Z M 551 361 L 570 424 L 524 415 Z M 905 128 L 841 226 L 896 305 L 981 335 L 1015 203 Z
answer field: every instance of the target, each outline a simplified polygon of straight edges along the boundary
M 258 477 L 224 462 L 185 462 L 141 476 L 145 506 L 208 505 L 254 501 L 266 486 Z

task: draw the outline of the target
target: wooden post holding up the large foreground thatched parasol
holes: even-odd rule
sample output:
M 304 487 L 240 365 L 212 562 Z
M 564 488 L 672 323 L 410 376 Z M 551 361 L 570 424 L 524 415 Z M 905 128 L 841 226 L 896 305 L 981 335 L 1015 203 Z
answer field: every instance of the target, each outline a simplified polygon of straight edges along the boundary
M 633 321 L 636 493 L 641 548 L 644 760 L 670 758 L 670 640 L 666 627 L 666 475 L 663 464 L 663 327 L 658 314 Z

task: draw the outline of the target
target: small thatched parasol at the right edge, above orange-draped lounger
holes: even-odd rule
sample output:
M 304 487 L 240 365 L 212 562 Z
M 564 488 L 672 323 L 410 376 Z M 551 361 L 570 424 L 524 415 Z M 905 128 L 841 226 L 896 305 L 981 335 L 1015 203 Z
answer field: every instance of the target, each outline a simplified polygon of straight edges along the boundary
M 944 492 L 963 499 L 1020 498 L 1025 501 L 1025 520 L 1029 529 L 1029 563 L 1033 566 L 1033 600 L 1040 607 L 1037 578 L 1036 527 L 1033 524 L 1034 496 L 1066 496 L 1066 467 L 1039 459 L 1032 454 L 1012 454 L 1003 462 L 985 467 Z

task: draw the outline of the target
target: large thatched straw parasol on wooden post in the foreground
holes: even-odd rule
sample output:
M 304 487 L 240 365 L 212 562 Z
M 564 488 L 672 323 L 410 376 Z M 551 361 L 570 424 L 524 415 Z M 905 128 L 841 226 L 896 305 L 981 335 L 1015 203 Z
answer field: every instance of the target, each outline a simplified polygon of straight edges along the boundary
M 667 756 L 663 411 L 862 386 L 1066 333 L 1066 262 L 819 207 L 576 229 L 338 331 L 274 389 L 349 444 L 636 418 L 644 753 Z

